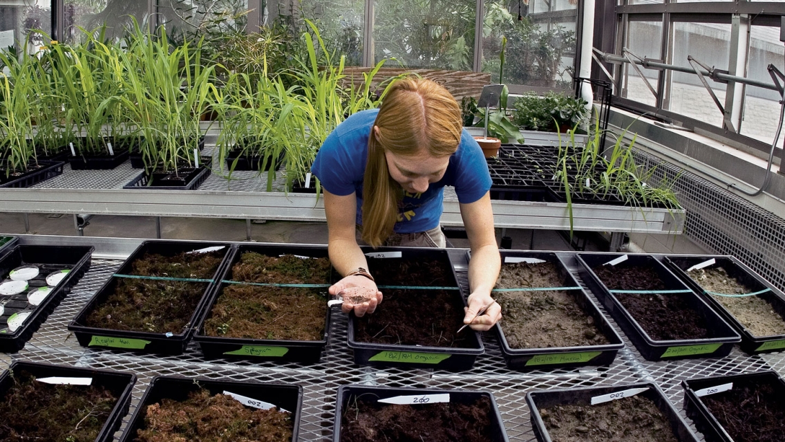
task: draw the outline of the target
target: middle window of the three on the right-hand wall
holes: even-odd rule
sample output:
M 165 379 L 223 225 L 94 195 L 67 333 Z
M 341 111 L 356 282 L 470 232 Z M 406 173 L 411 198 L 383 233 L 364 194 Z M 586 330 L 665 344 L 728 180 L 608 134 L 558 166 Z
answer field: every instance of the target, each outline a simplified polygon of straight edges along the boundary
M 728 69 L 730 24 L 674 23 L 672 64 L 690 67 L 687 56 L 717 69 Z M 714 94 L 725 105 L 725 84 L 707 79 Z M 670 104 L 666 109 L 696 120 L 722 126 L 722 113 L 696 74 L 673 72 L 670 80 Z

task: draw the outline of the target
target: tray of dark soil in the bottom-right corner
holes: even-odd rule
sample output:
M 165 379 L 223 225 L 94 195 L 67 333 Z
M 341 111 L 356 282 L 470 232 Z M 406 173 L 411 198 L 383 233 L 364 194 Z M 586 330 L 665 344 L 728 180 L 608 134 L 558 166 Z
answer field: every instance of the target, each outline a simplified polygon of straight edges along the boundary
M 707 442 L 780 442 L 785 382 L 775 371 L 685 379 L 685 410 Z

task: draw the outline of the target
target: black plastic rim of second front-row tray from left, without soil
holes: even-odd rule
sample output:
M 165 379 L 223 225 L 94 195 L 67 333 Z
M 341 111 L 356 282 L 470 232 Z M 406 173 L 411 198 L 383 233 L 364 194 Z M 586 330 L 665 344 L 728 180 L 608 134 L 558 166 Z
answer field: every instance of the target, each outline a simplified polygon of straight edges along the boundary
M 302 387 L 287 384 L 261 384 L 257 382 L 215 381 L 203 378 L 177 378 L 155 376 L 148 389 L 144 391 L 141 401 L 131 416 L 126 429 L 123 430 L 119 442 L 136 440 L 137 429 L 144 428 L 144 416 L 148 405 L 158 403 L 162 399 L 185 400 L 191 392 L 207 389 L 210 394 L 233 392 L 251 399 L 272 403 L 292 413 L 294 433 L 292 442 L 297 442 L 300 429 L 302 408 Z

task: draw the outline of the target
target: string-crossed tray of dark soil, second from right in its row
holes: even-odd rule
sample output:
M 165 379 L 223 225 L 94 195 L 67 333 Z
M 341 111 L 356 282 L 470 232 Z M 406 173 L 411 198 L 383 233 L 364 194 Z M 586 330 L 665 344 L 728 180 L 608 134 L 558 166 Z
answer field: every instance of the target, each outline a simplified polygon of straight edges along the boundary
M 702 297 L 652 256 L 576 257 L 583 281 L 645 359 L 721 358 L 741 341 Z

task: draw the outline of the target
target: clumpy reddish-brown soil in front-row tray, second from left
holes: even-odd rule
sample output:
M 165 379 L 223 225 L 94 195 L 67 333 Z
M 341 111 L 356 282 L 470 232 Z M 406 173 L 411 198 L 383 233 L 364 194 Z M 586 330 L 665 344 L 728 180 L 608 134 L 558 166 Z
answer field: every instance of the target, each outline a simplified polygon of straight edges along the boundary
M 291 414 L 277 408 L 244 406 L 232 396 L 210 396 L 206 389 L 188 400 L 164 399 L 148 405 L 137 442 L 288 442 L 294 433 Z

